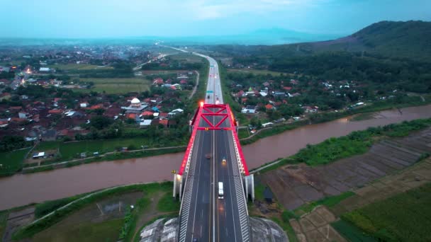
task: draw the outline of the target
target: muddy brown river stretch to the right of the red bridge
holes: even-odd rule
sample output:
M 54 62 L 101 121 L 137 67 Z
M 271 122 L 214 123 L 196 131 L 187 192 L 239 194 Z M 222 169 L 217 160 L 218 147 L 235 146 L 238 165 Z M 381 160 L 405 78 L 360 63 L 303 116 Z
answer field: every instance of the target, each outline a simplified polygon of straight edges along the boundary
M 291 156 L 307 144 L 317 144 L 330 137 L 340 137 L 355 130 L 388 125 L 394 122 L 431 117 L 431 105 L 386 110 L 374 114 L 374 118 L 350 121 L 350 117 L 317 125 L 306 125 L 242 147 L 250 168 L 261 166 L 280 157 Z

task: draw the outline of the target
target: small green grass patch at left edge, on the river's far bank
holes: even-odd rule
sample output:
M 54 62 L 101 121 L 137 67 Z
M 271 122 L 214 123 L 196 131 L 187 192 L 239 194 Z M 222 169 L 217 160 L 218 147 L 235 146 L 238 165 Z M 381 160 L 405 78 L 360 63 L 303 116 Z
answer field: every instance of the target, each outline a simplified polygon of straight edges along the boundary
M 0 153 L 0 176 L 13 175 L 23 167 L 23 160 L 26 158 L 30 148 L 18 149 Z

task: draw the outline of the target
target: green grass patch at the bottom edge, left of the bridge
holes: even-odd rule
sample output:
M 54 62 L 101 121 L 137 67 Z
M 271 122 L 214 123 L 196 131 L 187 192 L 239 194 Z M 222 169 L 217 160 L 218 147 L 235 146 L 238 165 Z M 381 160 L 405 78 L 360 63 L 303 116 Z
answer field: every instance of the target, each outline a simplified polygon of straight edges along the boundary
M 118 230 L 123 219 L 111 219 L 100 223 L 83 222 L 72 226 L 57 226 L 49 233 L 36 234 L 32 241 L 118 241 Z M 48 232 L 48 231 L 47 231 Z

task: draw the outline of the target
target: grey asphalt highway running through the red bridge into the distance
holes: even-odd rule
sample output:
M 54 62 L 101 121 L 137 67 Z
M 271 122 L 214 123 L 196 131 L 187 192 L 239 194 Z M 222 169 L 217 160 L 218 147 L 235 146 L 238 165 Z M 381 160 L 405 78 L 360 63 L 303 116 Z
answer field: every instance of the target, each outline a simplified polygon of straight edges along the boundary
M 211 57 L 201 56 L 210 62 L 205 102 L 223 104 L 218 64 Z M 211 117 L 209 120 L 215 124 L 221 117 Z M 229 126 L 228 119 L 220 125 Z M 201 119 L 199 127 L 209 125 Z M 243 195 L 237 195 L 234 181 L 240 173 L 237 163 L 230 162 L 231 154 L 235 153 L 231 150 L 232 132 L 198 130 L 195 142 L 191 160 L 194 164 L 191 164 L 187 174 L 187 183 L 193 183 L 190 206 L 188 211 L 182 211 L 188 212 L 184 241 L 193 241 L 194 238 L 198 241 L 243 241 L 238 209 L 238 199 Z M 208 155 L 211 156 L 209 159 Z M 226 163 L 222 163 L 223 158 Z M 218 199 L 218 182 L 223 182 L 223 199 Z

